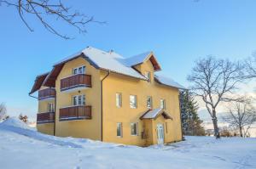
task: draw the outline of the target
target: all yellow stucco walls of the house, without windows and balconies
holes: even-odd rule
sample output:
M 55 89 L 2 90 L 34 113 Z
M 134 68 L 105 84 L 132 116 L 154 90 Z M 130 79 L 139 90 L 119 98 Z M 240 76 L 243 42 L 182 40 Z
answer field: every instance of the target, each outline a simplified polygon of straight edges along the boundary
M 72 75 L 73 68 L 86 66 L 86 74 L 91 75 L 92 87 L 83 90 L 75 90 L 71 93 L 60 91 L 61 79 Z M 157 144 L 156 125 L 164 125 L 165 143 L 179 141 L 181 136 L 180 111 L 178 101 L 178 89 L 166 87 L 154 82 L 154 69 L 148 60 L 143 65 L 137 65 L 137 70 L 143 74 L 151 72 L 151 82 L 139 80 L 130 76 L 110 73 L 104 80 L 101 97 L 101 80 L 107 76 L 106 70 L 97 70 L 83 58 L 73 59 L 67 62 L 55 82 L 56 109 L 55 109 L 55 135 L 60 137 L 91 138 L 101 140 L 101 128 L 103 127 L 103 141 L 119 144 L 134 144 L 146 146 Z M 116 107 L 115 94 L 122 94 L 122 106 Z M 92 106 L 90 120 L 59 121 L 59 110 L 62 107 L 72 105 L 72 96 L 85 94 L 86 105 Z M 137 108 L 130 108 L 130 95 L 137 95 Z M 153 109 L 160 107 L 160 99 L 166 99 L 166 112 L 172 116 L 172 120 L 166 120 L 160 115 L 154 120 L 140 120 L 141 115 L 148 110 L 146 99 L 152 97 Z M 103 100 L 103 117 L 101 123 L 101 99 Z M 46 101 L 39 101 L 38 112 L 45 112 Z M 117 137 L 117 123 L 122 123 L 122 137 Z M 131 136 L 131 123 L 138 123 L 138 135 Z M 101 127 L 102 125 L 102 127 Z M 166 130 L 166 125 L 167 130 Z M 53 124 L 39 124 L 38 130 L 44 133 L 53 133 Z M 142 132 L 147 131 L 147 138 L 142 138 Z M 167 132 L 168 131 L 168 132 Z

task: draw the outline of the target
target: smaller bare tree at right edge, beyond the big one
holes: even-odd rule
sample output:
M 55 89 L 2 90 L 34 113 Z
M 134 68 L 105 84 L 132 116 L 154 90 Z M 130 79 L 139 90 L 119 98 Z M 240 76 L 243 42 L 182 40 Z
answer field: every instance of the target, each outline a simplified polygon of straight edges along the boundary
M 224 121 L 239 129 L 241 137 L 246 137 L 248 129 L 256 122 L 256 109 L 253 107 L 252 100 L 231 102 L 228 110 L 228 115 L 223 117 Z

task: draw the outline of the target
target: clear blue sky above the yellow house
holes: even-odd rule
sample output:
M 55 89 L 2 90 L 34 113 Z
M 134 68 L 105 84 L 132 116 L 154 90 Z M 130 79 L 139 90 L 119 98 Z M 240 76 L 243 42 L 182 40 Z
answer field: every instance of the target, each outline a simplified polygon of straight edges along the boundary
M 52 21 L 63 40 L 27 16 L 34 32 L 27 30 L 15 8 L 0 7 L 0 102 L 10 115 L 35 117 L 38 103 L 28 97 L 35 76 L 51 69 L 58 60 L 93 46 L 129 57 L 154 51 L 163 70 L 188 86 L 186 76 L 195 59 L 212 54 L 218 58 L 243 59 L 256 49 L 256 1 L 254 0 L 130 0 L 63 1 L 80 12 L 106 21 L 91 23 L 88 33 Z

